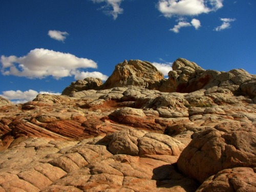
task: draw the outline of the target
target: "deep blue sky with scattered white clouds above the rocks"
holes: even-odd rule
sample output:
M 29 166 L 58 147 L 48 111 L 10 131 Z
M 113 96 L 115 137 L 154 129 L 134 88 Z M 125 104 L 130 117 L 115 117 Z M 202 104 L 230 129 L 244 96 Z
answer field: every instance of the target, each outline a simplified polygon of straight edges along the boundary
M 15 102 L 108 78 L 123 60 L 179 57 L 256 74 L 255 0 L 1 0 L 0 95 Z

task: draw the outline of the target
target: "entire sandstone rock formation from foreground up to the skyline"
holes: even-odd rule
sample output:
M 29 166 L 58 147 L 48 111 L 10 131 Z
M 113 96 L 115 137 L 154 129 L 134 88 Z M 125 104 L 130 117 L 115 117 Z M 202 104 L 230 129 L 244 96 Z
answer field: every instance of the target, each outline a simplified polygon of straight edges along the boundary
M 255 191 L 255 75 L 173 69 L 125 61 L 2 105 L 0 191 Z

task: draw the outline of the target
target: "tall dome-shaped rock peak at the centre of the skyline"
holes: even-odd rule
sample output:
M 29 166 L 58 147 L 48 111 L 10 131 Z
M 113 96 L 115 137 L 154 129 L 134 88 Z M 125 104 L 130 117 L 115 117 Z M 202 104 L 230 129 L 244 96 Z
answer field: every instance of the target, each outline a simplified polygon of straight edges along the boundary
M 138 86 L 153 89 L 163 79 L 163 74 L 150 62 L 141 60 L 125 60 L 116 65 L 112 75 L 103 84 L 102 89 L 115 87 Z

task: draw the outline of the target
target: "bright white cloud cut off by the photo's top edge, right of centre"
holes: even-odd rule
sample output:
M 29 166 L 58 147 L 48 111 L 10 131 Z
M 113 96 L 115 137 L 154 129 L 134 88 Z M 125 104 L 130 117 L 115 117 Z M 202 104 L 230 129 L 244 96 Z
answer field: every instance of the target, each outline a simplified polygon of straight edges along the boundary
M 223 0 L 159 0 L 158 10 L 165 17 L 193 16 L 216 11 L 223 7 Z

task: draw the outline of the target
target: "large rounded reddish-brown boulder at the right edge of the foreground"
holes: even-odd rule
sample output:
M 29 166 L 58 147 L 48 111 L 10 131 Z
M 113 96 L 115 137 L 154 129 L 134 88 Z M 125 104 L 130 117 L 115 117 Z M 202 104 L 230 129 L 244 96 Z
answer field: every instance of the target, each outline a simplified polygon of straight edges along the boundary
M 227 133 L 215 129 L 205 130 L 183 150 L 177 161 L 178 167 L 184 174 L 201 183 L 222 169 L 254 167 L 255 136 L 253 130 L 243 127 Z

